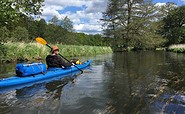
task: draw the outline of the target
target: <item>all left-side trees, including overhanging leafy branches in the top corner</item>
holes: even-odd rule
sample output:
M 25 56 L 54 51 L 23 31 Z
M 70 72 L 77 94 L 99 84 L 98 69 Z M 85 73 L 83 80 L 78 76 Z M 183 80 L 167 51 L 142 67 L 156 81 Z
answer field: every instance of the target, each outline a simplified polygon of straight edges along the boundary
M 88 35 L 76 33 L 73 23 L 66 16 L 58 19 L 54 16 L 49 22 L 35 19 L 41 14 L 44 0 L 0 1 L 0 44 L 5 42 L 32 42 L 36 37 L 43 37 L 50 43 L 67 45 L 109 46 L 109 39 L 100 34 Z

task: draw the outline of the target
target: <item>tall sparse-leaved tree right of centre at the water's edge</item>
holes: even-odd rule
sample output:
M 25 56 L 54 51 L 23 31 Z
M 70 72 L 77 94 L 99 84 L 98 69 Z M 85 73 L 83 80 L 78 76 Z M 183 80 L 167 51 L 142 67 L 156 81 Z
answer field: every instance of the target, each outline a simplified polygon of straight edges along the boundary
M 105 35 L 116 46 L 155 48 L 164 42 L 157 32 L 156 10 L 151 0 L 110 0 L 102 19 Z

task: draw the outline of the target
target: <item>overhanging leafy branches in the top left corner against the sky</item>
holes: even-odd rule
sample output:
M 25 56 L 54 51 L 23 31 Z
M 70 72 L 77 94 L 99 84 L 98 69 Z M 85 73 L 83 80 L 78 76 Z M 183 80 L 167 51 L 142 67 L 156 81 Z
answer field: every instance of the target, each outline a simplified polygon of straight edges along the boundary
M 17 21 L 22 15 L 41 13 L 44 0 L 1 0 L 0 26 Z

